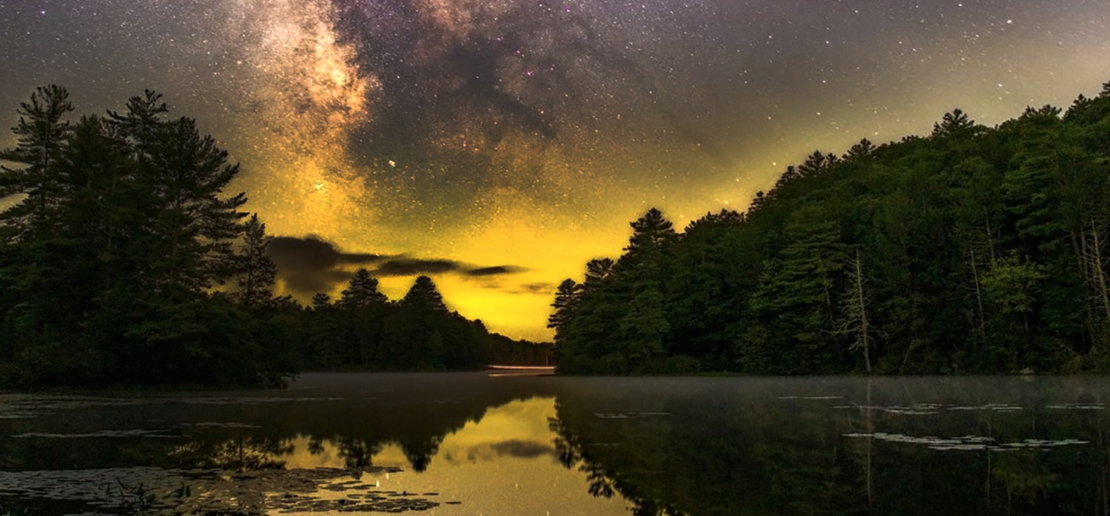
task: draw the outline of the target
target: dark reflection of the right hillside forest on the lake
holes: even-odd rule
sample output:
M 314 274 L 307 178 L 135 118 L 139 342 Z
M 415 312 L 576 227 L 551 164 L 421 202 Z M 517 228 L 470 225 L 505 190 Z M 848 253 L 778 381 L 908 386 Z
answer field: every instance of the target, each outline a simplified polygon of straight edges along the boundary
M 1036 383 L 859 379 L 785 389 L 845 396 L 819 401 L 779 400 L 789 380 L 767 382 L 779 383 L 777 390 L 760 381 L 667 382 L 567 390 L 549 422 L 561 462 L 584 472 L 592 494 L 623 495 L 636 514 L 1110 514 L 1110 417 L 1038 409 L 1046 388 Z M 916 415 L 875 409 L 919 400 L 969 406 L 1005 400 L 1027 409 Z M 846 406 L 833 409 L 838 404 Z M 846 436 L 876 432 L 1091 444 L 938 451 Z

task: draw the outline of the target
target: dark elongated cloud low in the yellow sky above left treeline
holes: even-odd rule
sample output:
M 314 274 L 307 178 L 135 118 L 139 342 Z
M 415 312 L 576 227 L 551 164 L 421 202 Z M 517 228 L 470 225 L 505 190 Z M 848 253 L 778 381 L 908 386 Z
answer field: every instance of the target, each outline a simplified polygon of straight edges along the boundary
M 492 278 L 527 270 L 512 265 L 474 266 L 442 258 L 343 252 L 314 236 L 274 237 L 268 249 L 285 289 L 301 296 L 331 292 L 337 285 L 350 280 L 356 268 L 365 268 L 379 277 L 458 274 Z

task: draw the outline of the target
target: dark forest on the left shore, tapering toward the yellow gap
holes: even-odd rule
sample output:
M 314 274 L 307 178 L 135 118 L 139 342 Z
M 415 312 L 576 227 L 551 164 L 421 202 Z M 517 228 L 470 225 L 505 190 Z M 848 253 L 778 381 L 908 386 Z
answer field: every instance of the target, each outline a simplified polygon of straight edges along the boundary
M 148 91 L 84 115 L 65 89 L 20 104 L 0 151 L 0 388 L 281 385 L 311 370 L 543 364 L 549 347 L 448 310 L 428 277 L 391 301 L 366 270 L 339 299 L 275 296 L 239 165 Z

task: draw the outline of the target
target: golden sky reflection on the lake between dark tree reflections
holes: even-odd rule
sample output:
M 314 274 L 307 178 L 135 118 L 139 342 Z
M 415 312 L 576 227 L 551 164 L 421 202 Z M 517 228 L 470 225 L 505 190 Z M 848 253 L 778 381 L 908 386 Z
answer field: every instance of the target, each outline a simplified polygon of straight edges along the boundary
M 554 455 L 555 434 L 547 419 L 555 416 L 555 399 L 534 398 L 490 409 L 481 422 L 468 422 L 446 437 L 427 469 L 415 473 L 397 445 L 374 455 L 375 466 L 398 466 L 403 473 L 367 474 L 363 482 L 380 482 L 381 489 L 438 493 L 431 500 L 458 500 L 430 514 L 486 515 L 627 515 L 619 496 L 595 498 L 585 475 L 567 469 Z M 295 443 L 289 468 L 343 467 L 331 442 L 322 453 L 307 452 L 307 437 Z

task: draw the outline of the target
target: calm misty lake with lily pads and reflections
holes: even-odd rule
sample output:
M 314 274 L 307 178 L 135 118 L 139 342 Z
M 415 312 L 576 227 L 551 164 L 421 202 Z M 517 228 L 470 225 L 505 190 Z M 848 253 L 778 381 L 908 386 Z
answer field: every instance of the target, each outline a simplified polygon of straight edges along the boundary
M 307 374 L 0 394 L 0 515 L 1110 514 L 1110 380 Z

